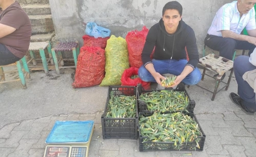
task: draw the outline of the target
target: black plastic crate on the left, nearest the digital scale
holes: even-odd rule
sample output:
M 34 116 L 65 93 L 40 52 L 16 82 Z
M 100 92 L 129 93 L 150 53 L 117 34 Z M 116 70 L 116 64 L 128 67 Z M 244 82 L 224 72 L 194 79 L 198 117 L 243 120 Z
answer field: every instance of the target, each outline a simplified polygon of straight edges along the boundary
M 104 113 L 101 116 L 103 139 L 108 138 L 128 138 L 138 139 L 138 101 L 136 101 L 136 117 L 135 118 L 106 118 L 110 92 L 114 92 L 114 96 L 136 96 L 136 86 L 109 86 L 108 97 L 105 105 Z

